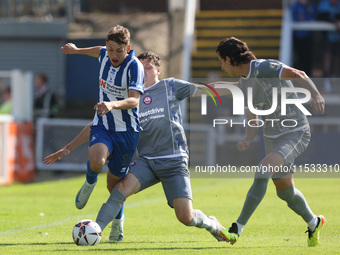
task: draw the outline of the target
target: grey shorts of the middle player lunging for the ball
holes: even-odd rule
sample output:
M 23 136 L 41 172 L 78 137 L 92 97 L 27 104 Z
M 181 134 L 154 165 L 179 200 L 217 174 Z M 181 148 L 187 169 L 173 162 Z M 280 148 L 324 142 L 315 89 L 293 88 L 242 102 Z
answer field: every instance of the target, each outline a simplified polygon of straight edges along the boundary
M 173 208 L 175 198 L 189 198 L 192 200 L 188 158 L 138 158 L 130 165 L 132 173 L 141 183 L 141 189 L 146 189 L 159 182 L 170 207 Z

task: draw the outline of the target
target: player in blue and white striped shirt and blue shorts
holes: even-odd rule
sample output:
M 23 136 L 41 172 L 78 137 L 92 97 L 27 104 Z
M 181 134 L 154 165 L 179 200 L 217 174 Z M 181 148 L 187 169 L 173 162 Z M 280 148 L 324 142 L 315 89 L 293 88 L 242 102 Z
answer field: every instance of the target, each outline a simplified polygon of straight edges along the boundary
M 91 125 L 89 160 L 86 180 L 76 196 L 76 207 L 82 209 L 97 182 L 97 176 L 106 162 L 107 188 L 128 172 L 141 130 L 138 113 L 140 95 L 144 90 L 144 69 L 130 45 L 130 32 L 117 25 L 108 32 L 106 46 L 78 48 L 67 43 L 65 54 L 83 54 L 96 57 L 100 63 L 98 102 Z M 116 217 L 116 239 L 122 238 L 123 208 Z

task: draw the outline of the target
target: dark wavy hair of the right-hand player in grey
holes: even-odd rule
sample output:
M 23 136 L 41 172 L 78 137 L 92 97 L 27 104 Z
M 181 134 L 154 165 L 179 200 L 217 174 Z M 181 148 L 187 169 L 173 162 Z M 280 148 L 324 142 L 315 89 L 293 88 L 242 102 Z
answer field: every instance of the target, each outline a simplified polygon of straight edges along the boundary
M 230 58 L 230 63 L 233 66 L 247 64 L 251 60 L 256 59 L 253 52 L 248 48 L 248 45 L 235 37 L 223 39 L 216 48 L 216 53 L 225 60 Z

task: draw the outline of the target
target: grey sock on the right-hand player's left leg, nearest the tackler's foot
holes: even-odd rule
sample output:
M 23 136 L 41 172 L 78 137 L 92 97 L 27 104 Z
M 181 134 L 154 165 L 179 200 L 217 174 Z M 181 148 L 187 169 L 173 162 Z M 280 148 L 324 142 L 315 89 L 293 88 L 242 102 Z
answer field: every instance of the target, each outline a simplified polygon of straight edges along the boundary
M 246 225 L 251 215 L 256 210 L 257 206 L 261 203 L 264 195 L 267 192 L 268 181 L 270 179 L 270 173 L 255 177 L 253 185 L 250 187 L 246 201 L 243 204 L 243 208 L 237 222 Z

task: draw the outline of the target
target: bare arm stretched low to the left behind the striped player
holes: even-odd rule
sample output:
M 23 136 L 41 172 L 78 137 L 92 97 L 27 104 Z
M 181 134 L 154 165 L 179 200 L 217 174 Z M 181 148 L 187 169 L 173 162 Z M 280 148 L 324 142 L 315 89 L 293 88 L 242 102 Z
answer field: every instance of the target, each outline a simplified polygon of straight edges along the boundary
M 88 124 L 83 130 L 64 148 L 60 149 L 59 151 L 52 153 L 48 155 L 44 159 L 45 164 L 53 164 L 57 160 L 61 160 L 62 158 L 66 157 L 68 154 L 70 154 L 71 151 L 73 151 L 75 148 L 79 147 L 83 143 L 87 142 L 90 138 L 90 131 L 91 131 L 91 125 Z

